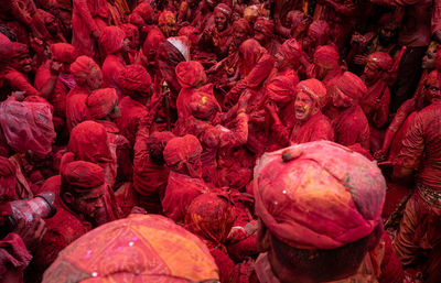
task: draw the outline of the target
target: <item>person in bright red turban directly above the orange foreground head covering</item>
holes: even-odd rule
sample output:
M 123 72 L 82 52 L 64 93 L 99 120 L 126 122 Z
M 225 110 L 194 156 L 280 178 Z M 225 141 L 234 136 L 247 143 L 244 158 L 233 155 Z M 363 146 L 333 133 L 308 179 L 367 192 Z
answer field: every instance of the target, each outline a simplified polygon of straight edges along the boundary
M 171 139 L 163 152 L 170 174 L 162 208 L 164 215 L 178 224 L 184 222 L 193 199 L 209 192 L 202 179 L 201 153 L 201 143 L 192 134 Z

